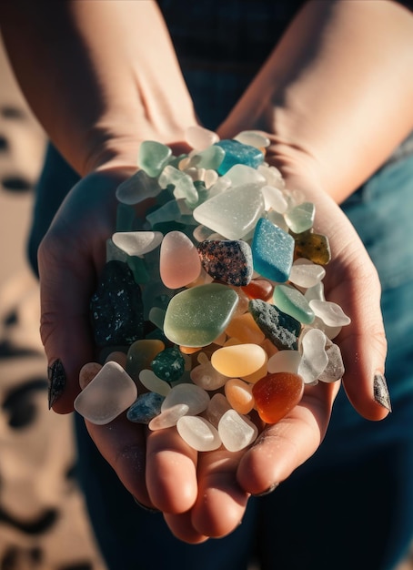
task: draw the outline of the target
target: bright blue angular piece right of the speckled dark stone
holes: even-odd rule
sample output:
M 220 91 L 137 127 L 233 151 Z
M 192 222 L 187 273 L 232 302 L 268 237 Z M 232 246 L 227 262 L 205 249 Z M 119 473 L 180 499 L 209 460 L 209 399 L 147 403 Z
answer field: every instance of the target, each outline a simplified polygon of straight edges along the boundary
M 252 242 L 254 269 L 269 280 L 287 281 L 293 263 L 294 239 L 268 219 L 258 219 Z

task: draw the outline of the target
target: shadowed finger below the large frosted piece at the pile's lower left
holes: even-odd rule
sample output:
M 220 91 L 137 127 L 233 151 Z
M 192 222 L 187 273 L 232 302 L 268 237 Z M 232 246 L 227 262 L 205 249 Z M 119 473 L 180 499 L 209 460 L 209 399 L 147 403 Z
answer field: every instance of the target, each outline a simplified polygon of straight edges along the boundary
M 129 422 L 123 414 L 106 425 L 86 421 L 86 428 L 126 489 L 139 503 L 153 508 L 146 491 L 146 435 L 143 426 Z

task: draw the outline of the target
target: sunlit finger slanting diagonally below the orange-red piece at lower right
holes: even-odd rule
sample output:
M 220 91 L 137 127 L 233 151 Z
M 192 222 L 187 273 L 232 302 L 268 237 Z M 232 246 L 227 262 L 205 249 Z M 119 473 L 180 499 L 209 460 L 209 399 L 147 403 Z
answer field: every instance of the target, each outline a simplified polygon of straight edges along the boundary
M 301 402 L 268 425 L 242 457 L 237 481 L 250 494 L 264 494 L 316 452 L 327 431 L 338 382 L 308 386 Z

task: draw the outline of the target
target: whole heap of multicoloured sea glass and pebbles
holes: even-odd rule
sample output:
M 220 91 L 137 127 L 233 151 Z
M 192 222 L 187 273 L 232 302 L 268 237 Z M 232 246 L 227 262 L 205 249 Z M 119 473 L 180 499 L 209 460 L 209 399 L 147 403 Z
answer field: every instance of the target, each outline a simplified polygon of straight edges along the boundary
M 315 205 L 266 163 L 267 137 L 191 127 L 186 142 L 193 150 L 176 157 L 145 141 L 117 188 L 91 300 L 106 362 L 82 369 L 75 407 L 97 424 L 126 412 L 198 451 L 235 452 L 306 385 L 342 377 L 332 340 L 350 320 L 324 296 L 330 249 Z

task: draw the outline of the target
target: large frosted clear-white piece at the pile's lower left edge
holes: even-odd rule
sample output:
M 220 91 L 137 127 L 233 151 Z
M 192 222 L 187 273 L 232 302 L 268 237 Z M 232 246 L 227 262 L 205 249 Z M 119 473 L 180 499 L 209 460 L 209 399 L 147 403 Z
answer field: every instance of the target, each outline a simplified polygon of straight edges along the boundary
M 117 362 L 109 361 L 76 397 L 74 406 L 96 425 L 112 422 L 136 400 L 136 383 Z

